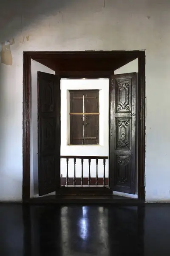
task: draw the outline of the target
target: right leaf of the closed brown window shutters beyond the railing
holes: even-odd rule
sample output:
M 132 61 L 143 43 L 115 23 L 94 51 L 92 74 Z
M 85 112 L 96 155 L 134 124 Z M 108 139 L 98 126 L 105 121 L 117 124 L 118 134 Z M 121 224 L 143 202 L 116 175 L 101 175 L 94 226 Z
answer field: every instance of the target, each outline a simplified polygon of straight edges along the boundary
M 84 92 L 84 145 L 99 143 L 99 90 L 87 90 Z

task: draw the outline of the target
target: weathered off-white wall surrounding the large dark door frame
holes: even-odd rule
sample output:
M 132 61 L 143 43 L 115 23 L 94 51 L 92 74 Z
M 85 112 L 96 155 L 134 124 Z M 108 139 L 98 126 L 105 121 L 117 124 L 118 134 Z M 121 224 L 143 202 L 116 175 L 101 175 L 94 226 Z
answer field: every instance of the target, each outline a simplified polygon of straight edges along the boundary
M 170 201 L 170 1 L 8 0 L 0 24 L 0 200 L 22 198 L 23 51 L 146 49 L 146 201 Z

